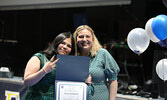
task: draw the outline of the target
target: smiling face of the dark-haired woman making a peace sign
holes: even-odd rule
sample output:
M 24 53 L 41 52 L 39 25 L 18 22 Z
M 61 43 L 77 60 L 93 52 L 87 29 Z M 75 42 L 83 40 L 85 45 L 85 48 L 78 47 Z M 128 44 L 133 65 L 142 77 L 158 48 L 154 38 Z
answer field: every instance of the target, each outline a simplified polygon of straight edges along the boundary
M 60 55 L 69 55 L 71 52 L 71 48 L 71 38 L 66 38 L 58 45 L 57 51 Z

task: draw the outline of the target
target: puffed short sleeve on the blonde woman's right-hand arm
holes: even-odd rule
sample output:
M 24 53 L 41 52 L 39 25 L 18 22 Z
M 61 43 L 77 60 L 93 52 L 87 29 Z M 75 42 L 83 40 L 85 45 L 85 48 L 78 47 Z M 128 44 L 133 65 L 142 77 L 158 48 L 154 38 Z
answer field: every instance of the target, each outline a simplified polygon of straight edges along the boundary
M 109 80 L 117 80 L 117 76 L 118 76 L 120 69 L 115 59 L 105 49 L 103 50 L 103 57 L 104 57 L 105 75 L 107 76 Z

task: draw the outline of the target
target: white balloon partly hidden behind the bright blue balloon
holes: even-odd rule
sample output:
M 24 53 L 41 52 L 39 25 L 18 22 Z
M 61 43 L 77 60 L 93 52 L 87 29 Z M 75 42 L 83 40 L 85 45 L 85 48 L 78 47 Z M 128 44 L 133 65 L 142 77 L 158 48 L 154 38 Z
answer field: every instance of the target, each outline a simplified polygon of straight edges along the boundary
M 156 43 L 156 42 L 159 42 L 160 40 L 152 32 L 151 24 L 152 24 L 153 19 L 154 18 L 151 18 L 147 21 L 147 23 L 145 25 L 145 30 L 146 30 L 146 33 L 147 33 L 148 37 L 150 38 L 150 40 Z

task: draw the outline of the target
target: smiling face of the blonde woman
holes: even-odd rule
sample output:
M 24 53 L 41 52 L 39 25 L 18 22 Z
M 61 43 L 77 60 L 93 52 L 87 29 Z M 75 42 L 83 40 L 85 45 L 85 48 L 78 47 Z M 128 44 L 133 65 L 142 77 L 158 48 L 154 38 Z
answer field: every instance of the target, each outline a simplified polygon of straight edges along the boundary
M 92 48 L 92 44 L 93 37 L 92 33 L 89 30 L 83 29 L 78 32 L 77 46 L 81 51 L 89 52 Z

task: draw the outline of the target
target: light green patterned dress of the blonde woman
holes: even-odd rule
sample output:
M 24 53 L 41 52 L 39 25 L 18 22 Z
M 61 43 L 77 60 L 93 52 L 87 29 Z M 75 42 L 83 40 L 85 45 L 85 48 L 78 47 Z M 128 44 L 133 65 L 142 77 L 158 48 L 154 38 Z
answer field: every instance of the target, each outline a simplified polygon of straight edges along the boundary
M 109 100 L 109 85 L 106 80 L 117 80 L 120 69 L 106 49 L 101 48 L 96 56 L 90 58 L 89 73 L 92 76 L 94 88 L 94 94 L 90 98 L 91 100 Z

